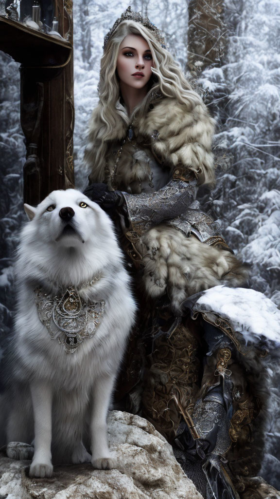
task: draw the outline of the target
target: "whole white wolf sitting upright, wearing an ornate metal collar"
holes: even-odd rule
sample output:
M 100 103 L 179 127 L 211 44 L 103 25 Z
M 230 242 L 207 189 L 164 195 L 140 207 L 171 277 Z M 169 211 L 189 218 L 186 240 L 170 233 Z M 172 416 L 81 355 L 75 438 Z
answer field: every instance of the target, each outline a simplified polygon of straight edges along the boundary
M 136 305 L 113 224 L 74 189 L 24 208 L 7 442 L 34 438 L 33 477 L 52 458 L 114 468 L 106 418 Z

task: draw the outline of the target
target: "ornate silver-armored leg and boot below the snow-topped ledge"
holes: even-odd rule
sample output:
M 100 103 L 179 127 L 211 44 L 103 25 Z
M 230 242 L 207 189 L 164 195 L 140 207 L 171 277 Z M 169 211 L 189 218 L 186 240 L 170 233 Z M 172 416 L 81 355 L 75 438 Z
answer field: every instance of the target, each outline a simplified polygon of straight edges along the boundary
M 235 359 L 238 352 L 233 341 L 207 322 L 204 340 L 208 351 L 192 412 L 197 438 L 181 423 L 173 451 L 204 498 L 239 499 L 246 489 L 243 477 L 258 471 L 252 453 L 249 463 L 243 451 L 246 445 L 250 449 L 258 400 L 248 392 L 246 372 Z

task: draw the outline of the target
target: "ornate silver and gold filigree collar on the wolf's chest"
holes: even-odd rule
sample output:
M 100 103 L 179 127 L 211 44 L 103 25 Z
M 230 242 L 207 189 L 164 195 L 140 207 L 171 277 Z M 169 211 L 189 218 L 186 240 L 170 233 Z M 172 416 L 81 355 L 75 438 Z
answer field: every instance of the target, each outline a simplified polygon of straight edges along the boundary
M 100 276 L 82 283 L 79 288 L 92 286 L 99 279 Z M 41 287 L 37 287 L 35 292 L 40 321 L 46 326 L 52 339 L 55 338 L 52 327 L 55 325 L 60 329 L 62 334 L 58 336 L 58 342 L 63 343 L 66 353 L 74 353 L 85 338 L 93 337 L 104 315 L 104 300 L 87 304 L 73 285 L 66 287 L 62 296 L 52 297 Z

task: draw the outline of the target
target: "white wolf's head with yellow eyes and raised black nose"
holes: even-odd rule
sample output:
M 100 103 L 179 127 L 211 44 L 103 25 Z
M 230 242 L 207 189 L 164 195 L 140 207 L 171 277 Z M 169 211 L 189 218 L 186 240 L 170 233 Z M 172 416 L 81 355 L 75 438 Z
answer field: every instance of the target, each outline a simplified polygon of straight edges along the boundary
M 16 259 L 22 281 L 49 277 L 76 285 L 122 264 L 113 222 L 81 192 L 53 191 L 36 208 L 24 209 L 30 222 L 21 231 Z

